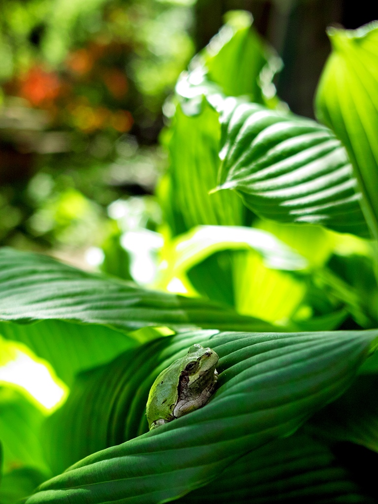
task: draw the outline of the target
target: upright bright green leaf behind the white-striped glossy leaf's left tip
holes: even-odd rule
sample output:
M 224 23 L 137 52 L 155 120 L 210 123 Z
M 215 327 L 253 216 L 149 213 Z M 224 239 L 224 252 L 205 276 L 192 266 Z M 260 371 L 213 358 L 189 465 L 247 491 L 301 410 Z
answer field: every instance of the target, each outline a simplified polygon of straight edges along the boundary
M 188 117 L 177 105 L 169 141 L 170 165 L 159 197 L 173 235 L 194 226 L 243 225 L 245 208 L 233 194 L 209 195 L 219 167 L 218 113 L 204 103 L 198 116 Z

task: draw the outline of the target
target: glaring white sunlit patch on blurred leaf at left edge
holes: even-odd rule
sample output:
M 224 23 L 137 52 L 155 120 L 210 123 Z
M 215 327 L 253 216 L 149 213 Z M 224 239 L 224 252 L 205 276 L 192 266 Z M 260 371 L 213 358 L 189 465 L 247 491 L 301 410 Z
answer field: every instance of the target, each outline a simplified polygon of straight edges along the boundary
M 47 367 L 29 355 L 16 350 L 16 357 L 0 367 L 0 382 L 24 388 L 46 409 L 52 409 L 67 395 L 67 391 L 54 381 Z

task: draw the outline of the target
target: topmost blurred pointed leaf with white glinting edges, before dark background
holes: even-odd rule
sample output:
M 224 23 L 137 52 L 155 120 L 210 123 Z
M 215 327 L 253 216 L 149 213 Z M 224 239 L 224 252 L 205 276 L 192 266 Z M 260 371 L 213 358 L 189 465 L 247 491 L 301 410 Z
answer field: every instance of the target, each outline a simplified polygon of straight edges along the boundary
M 243 96 L 276 107 L 272 83 L 282 61 L 251 26 L 246 11 L 226 14 L 226 24 L 189 64 L 176 84 L 176 96 L 186 115 L 202 110 L 203 96 L 215 105 L 224 96 Z

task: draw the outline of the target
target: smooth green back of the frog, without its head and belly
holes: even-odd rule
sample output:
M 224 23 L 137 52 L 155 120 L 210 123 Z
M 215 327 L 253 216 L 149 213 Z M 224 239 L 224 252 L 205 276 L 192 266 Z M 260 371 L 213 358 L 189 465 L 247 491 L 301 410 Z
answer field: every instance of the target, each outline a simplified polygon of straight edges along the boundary
M 159 418 L 171 420 L 170 417 L 178 398 L 177 387 L 180 371 L 181 362 L 173 362 L 155 380 L 146 407 L 149 426 Z M 172 375 L 177 376 L 177 381 L 171 379 Z

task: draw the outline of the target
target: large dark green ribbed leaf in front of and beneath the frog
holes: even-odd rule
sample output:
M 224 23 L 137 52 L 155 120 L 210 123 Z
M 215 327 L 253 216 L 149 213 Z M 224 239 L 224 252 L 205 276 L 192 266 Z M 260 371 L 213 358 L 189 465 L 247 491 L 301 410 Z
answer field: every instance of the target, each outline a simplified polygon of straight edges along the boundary
M 143 504 L 182 496 L 215 479 L 242 455 L 292 433 L 314 411 L 336 399 L 351 383 L 377 336 L 378 330 L 166 338 L 167 348 L 174 345 L 177 353 L 168 359 L 165 355 L 163 362 L 159 359 L 148 379 L 138 380 L 140 388 L 130 396 L 138 402 L 136 409 L 134 404 L 130 408 L 135 411 L 134 421 L 143 417 L 141 405 L 154 378 L 185 353 L 188 338 L 211 346 L 220 356 L 219 388 L 210 403 L 90 455 L 43 483 L 26 502 L 75 504 L 85 498 L 87 504 L 114 500 Z

